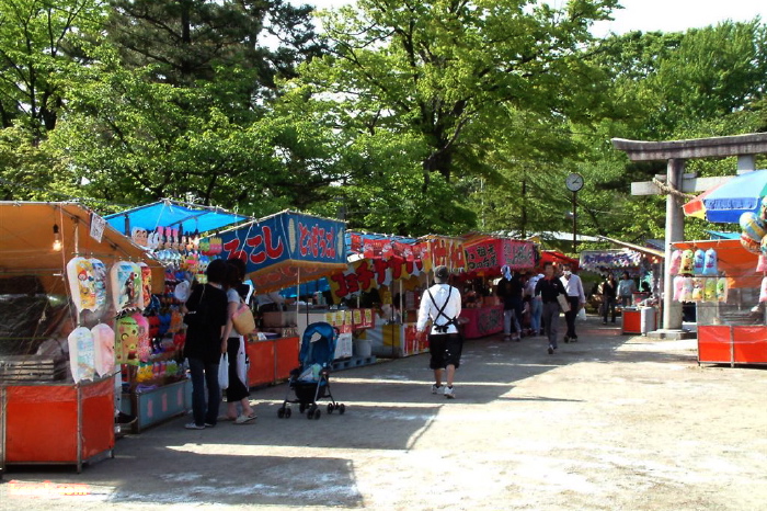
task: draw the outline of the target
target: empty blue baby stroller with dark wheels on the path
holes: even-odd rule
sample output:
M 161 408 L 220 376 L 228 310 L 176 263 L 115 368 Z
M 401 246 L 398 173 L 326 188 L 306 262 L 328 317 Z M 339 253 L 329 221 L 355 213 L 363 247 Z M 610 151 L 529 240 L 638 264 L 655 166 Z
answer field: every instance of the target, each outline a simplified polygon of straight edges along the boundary
M 319 334 L 319 339 L 312 340 Z M 319 420 L 322 415 L 317 400 L 328 397 L 328 413 L 339 410 L 343 415 L 346 407 L 335 402 L 330 391 L 330 364 L 335 356 L 335 341 L 339 332 L 327 322 L 313 322 L 309 325 L 301 338 L 301 351 L 298 353 L 300 366 L 290 372 L 288 389 L 285 394 L 283 406 L 277 410 L 277 417 L 290 418 L 289 402 L 298 402 L 298 411 L 307 410 L 307 419 Z M 290 390 L 296 394 L 296 399 L 288 399 Z

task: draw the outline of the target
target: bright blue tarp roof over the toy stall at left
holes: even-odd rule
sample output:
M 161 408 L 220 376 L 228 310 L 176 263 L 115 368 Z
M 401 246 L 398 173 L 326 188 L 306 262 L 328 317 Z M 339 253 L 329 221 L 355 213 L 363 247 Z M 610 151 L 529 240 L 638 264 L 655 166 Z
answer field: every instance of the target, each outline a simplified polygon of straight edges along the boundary
M 157 227 L 179 228 L 182 232 L 208 232 L 247 220 L 249 217 L 228 213 L 218 207 L 194 206 L 163 200 L 105 217 L 106 222 L 130 236 L 130 229 L 141 227 L 149 231 Z

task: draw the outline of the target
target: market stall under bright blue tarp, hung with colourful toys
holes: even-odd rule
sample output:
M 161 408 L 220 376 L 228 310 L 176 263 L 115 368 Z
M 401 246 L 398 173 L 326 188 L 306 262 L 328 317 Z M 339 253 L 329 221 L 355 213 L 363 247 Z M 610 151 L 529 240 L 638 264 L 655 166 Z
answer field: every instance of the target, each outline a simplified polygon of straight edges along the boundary
M 222 248 L 215 232 L 247 217 L 218 207 L 163 200 L 105 217 L 106 222 L 162 264 L 159 289 L 140 314 L 117 319 L 123 347 L 137 345 L 121 362 L 124 413 L 136 417 L 134 432 L 190 410 L 192 385 L 183 357 L 181 310 L 194 281 Z M 118 350 L 119 353 L 119 350 Z

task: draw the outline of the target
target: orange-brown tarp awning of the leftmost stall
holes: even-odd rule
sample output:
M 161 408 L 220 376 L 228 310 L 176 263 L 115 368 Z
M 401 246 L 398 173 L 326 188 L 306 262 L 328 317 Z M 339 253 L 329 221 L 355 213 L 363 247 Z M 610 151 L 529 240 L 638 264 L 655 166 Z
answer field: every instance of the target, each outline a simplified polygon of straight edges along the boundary
M 119 260 L 144 261 L 152 269 L 156 292 L 164 270 L 144 248 L 110 224 L 101 241 L 91 237 L 95 213 L 78 203 L 0 202 L 0 276 L 37 275 L 46 289 L 64 288 L 64 270 L 76 257 L 100 259 L 106 266 Z M 54 251 L 54 226 L 61 250 Z

